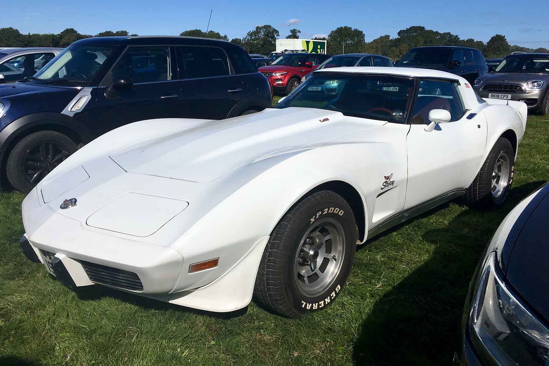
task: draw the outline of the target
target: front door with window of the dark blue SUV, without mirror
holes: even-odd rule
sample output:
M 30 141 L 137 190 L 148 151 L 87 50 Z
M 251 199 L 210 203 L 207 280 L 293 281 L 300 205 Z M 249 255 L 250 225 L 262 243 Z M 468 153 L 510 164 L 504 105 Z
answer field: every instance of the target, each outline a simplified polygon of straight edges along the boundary
M 131 46 L 116 61 L 97 89 L 94 133 L 127 123 L 181 116 L 180 88 L 170 46 Z M 151 61 L 151 62 L 149 62 Z M 116 89 L 116 80 L 133 86 Z

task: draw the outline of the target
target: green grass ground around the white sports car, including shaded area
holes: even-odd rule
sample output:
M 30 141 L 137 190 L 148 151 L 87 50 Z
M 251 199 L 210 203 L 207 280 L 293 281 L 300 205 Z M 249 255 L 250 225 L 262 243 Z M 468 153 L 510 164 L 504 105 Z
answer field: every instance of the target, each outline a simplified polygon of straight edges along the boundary
M 338 301 L 299 320 L 255 302 L 223 315 L 100 286 L 72 292 L 21 254 L 24 196 L 0 192 L 0 364 L 450 364 L 481 252 L 507 212 L 549 179 L 548 125 L 529 117 L 503 209 L 452 202 L 369 241 Z

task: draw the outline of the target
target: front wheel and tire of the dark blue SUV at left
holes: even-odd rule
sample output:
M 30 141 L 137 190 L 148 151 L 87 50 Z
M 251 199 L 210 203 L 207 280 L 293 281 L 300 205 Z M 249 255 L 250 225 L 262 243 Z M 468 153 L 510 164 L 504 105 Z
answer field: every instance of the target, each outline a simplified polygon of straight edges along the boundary
M 76 150 L 76 144 L 62 133 L 31 133 L 21 139 L 9 153 L 6 163 L 8 181 L 16 190 L 29 193 Z

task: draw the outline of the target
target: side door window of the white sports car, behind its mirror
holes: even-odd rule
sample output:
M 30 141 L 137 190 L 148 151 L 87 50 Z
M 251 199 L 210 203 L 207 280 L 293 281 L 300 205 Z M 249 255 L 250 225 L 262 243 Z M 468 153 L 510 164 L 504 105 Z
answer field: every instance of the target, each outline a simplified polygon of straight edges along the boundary
M 459 120 L 465 113 L 465 107 L 455 82 L 445 80 L 422 80 L 412 114 L 412 123 L 429 124 L 429 111 L 445 109 L 450 112 L 450 121 Z

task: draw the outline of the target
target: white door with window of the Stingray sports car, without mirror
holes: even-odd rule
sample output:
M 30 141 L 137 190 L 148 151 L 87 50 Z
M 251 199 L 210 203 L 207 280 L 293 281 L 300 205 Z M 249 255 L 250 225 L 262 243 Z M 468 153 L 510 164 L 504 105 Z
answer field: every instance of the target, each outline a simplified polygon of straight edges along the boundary
M 468 118 L 457 81 L 422 79 L 407 137 L 408 185 L 404 209 L 466 188 L 477 173 L 486 144 L 486 122 Z M 445 109 L 451 120 L 425 131 L 429 111 Z

